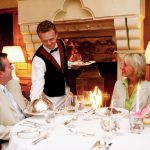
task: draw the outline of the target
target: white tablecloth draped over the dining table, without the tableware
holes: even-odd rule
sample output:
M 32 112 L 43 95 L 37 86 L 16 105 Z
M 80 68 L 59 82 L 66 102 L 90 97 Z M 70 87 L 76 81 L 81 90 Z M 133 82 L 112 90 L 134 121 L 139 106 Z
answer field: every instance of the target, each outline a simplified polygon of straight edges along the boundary
M 92 116 L 92 117 L 91 117 Z M 36 145 L 32 144 L 35 138 L 20 138 L 16 132 L 22 129 L 32 129 L 32 127 L 22 126 L 23 122 L 31 120 L 34 122 L 46 124 L 44 116 L 34 116 L 27 118 L 15 125 L 11 131 L 11 140 L 7 150 L 90 150 L 92 145 L 97 141 L 104 139 L 105 132 L 101 130 L 100 119 L 96 115 L 86 113 L 84 116 L 79 115 L 78 120 L 72 121 L 68 126 L 78 131 L 94 134 L 94 136 L 83 136 L 81 134 L 72 134 L 68 131 L 68 126 L 64 122 L 70 118 L 69 115 L 56 115 L 54 130 L 41 126 L 37 130 L 41 133 L 49 132 L 47 139 Z M 110 150 L 149 150 L 150 127 L 145 127 L 141 134 L 130 133 L 128 118 L 119 121 L 120 130 L 111 132 L 112 145 Z M 107 141 L 108 142 L 108 141 Z

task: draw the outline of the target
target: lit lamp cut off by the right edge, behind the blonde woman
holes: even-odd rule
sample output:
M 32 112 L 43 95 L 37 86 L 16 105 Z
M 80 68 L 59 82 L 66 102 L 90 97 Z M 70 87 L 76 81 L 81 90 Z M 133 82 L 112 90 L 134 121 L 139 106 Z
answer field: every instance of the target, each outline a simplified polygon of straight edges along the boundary
M 150 81 L 150 42 L 148 42 L 145 51 L 145 58 L 146 58 L 146 79 Z

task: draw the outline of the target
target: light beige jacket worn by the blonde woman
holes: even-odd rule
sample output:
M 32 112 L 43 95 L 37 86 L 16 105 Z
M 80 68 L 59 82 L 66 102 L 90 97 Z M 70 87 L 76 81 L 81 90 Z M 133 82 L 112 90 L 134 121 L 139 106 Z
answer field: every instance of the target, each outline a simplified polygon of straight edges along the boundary
M 114 107 L 125 108 L 125 100 L 126 100 L 126 87 L 122 80 L 119 80 L 115 83 L 111 105 Z M 139 90 L 139 107 L 143 108 L 147 105 L 150 105 L 150 82 L 142 81 L 140 84 Z M 131 110 L 135 111 L 136 109 L 136 96 L 133 100 Z

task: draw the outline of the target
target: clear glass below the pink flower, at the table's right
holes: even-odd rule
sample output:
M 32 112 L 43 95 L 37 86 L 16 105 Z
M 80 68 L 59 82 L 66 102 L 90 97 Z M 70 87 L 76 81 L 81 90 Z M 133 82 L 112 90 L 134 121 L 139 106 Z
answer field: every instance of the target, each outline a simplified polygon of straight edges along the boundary
M 140 134 L 144 129 L 143 118 L 136 117 L 133 112 L 129 114 L 129 124 L 132 133 Z

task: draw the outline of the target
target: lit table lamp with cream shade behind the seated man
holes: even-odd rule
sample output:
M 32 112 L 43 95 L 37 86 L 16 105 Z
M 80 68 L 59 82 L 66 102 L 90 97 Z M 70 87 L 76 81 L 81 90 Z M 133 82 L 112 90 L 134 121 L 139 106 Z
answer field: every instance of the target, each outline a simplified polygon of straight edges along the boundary
M 9 59 L 9 61 L 12 63 L 14 67 L 12 71 L 13 79 L 19 80 L 19 78 L 16 76 L 14 63 L 25 62 L 22 48 L 20 46 L 4 46 L 2 52 L 7 54 L 7 58 Z

